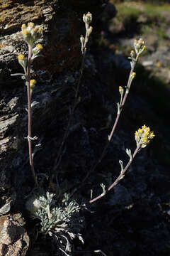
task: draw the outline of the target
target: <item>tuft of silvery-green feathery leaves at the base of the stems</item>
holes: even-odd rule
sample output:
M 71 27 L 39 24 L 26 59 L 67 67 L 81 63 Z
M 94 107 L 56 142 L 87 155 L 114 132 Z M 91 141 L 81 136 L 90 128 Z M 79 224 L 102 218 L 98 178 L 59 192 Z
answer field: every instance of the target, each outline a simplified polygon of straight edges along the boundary
M 79 217 L 79 204 L 74 200 L 70 201 L 68 194 L 64 194 L 62 203 L 58 206 L 54 197 L 55 194 L 49 192 L 46 196 L 40 196 L 40 208 L 35 211 L 35 216 L 40 219 L 42 233 L 55 237 L 60 250 L 67 255 L 72 249 L 71 240 L 77 237 L 84 242 L 79 233 L 83 227 L 83 219 Z

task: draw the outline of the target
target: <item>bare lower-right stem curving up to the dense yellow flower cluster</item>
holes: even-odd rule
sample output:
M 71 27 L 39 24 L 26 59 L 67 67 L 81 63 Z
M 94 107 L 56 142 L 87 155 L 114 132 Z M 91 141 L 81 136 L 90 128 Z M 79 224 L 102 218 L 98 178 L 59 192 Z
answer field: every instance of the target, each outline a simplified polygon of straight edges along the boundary
M 128 170 L 130 164 L 132 164 L 132 161 L 135 158 L 137 152 L 140 150 L 140 148 L 141 148 L 141 144 L 138 144 L 138 146 L 136 147 L 136 149 L 132 155 L 132 159 L 130 159 L 128 161 L 128 164 L 125 166 L 125 169 L 123 169 L 123 171 L 120 172 L 120 175 L 118 176 L 118 178 L 115 179 L 115 181 L 111 184 L 111 186 L 109 186 L 108 189 L 104 193 L 101 193 L 101 195 L 96 196 L 96 198 L 94 198 L 94 199 L 91 199 L 91 201 L 89 201 L 89 203 L 94 203 L 98 199 L 102 198 L 103 196 L 106 195 L 106 193 L 108 193 L 108 191 L 110 191 L 115 185 L 118 184 L 118 182 L 123 178 L 125 172 Z M 84 204 L 84 206 L 86 206 L 86 204 Z

